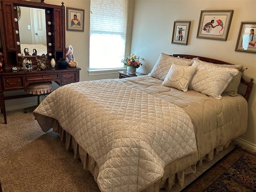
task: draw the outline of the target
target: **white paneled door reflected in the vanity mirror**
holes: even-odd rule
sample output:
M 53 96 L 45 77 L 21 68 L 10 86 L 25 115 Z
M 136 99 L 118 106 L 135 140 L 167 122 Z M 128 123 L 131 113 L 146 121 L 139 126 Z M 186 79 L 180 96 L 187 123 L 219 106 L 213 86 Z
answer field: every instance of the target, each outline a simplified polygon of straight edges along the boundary
M 33 44 L 43 44 L 46 46 L 46 18 L 45 10 L 30 8 L 32 42 Z M 34 24 L 34 26 L 33 26 Z

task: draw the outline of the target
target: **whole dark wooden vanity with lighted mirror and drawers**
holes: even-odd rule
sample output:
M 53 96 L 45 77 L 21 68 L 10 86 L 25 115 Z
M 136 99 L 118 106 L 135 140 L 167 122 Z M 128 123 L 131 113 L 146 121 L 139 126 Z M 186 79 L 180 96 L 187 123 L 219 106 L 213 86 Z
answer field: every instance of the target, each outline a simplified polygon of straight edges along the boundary
M 46 58 L 45 70 L 37 70 L 37 61 L 42 54 L 32 55 L 38 45 L 45 48 L 42 50 Z M 57 61 L 65 58 L 65 46 L 63 2 L 61 5 L 52 5 L 44 3 L 44 0 L 38 2 L 0 0 L 0 51 L 4 58 L 4 66 L 0 68 L 0 107 L 5 124 L 7 124 L 5 100 L 35 95 L 4 97 L 4 92 L 26 91 L 30 83 L 36 82 L 54 81 L 62 86 L 79 81 L 80 68 L 58 67 Z M 56 61 L 55 68 L 50 66 L 52 58 Z M 32 63 L 32 70 L 21 69 L 24 59 Z M 13 71 L 13 67 L 20 70 Z

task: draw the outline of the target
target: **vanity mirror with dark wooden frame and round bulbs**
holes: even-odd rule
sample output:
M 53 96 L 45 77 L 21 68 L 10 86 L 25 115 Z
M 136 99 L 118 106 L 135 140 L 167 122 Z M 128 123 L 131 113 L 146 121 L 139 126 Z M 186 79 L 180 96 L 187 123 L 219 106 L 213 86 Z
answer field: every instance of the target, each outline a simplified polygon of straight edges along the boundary
M 25 0 L 0 0 L 0 39 L 5 67 L 22 66 L 26 57 L 65 57 L 65 7 Z

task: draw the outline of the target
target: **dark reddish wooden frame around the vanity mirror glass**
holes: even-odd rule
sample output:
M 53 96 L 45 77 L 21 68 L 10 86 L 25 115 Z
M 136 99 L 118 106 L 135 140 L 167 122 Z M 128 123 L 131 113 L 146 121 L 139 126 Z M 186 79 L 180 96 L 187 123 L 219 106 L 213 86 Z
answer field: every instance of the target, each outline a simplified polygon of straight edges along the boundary
M 22 66 L 22 62 L 24 58 L 28 60 L 32 60 L 32 65 L 36 66 L 36 57 L 37 56 L 25 56 L 20 50 L 20 36 L 19 33 L 17 34 L 16 31 L 19 32 L 18 26 L 18 6 L 23 7 L 31 7 L 31 8 L 40 8 L 44 9 L 46 12 L 46 45 L 47 45 L 47 59 L 46 64 L 50 65 L 50 60 L 54 58 L 55 60 L 59 60 L 60 58 L 65 58 L 65 7 L 64 3 L 61 3 L 61 6 L 46 4 L 44 0 L 41 2 L 29 2 L 25 0 L 0 0 L 0 35 L 1 35 L 1 44 L 2 44 L 2 51 L 4 54 L 4 64 L 5 66 Z M 12 7 L 12 13 L 6 13 L 8 10 L 5 10 L 5 7 L 8 5 L 8 9 L 10 11 L 10 7 Z M 16 9 L 14 9 L 16 7 Z M 12 48 L 9 46 L 9 42 L 7 38 L 2 40 L 3 36 L 10 31 L 4 24 L 4 16 L 12 15 L 12 24 L 14 26 L 13 31 L 13 38 L 12 42 L 16 42 L 16 45 L 11 45 Z M 17 20 L 17 21 L 16 21 Z M 10 22 L 10 21 L 9 21 Z M 48 24 L 50 22 L 50 24 Z M 48 33 L 51 35 L 48 35 Z M 55 36 L 55 33 L 58 36 Z M 11 34 L 8 34 L 9 36 Z M 49 46 L 49 43 L 51 46 Z M 23 54 L 23 55 L 22 55 Z M 16 57 L 16 60 L 15 58 Z M 7 60 L 7 63 L 6 63 Z

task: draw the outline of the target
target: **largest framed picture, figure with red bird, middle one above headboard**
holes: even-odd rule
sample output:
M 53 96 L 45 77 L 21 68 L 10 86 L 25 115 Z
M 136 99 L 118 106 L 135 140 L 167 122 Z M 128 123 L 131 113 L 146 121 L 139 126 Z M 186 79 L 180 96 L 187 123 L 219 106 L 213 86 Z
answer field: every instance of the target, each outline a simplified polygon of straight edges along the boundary
M 233 12 L 234 10 L 202 10 L 196 38 L 226 41 Z

